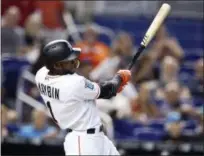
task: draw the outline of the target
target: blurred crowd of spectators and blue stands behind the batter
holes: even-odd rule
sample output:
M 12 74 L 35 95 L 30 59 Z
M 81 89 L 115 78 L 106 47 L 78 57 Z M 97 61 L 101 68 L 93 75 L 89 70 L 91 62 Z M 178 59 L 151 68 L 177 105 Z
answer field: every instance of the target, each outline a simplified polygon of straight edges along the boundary
M 121 155 L 204 154 L 203 1 L 165 2 L 171 14 L 131 82 L 115 98 L 97 100 Z M 66 133 L 49 118 L 34 83 L 47 42 L 66 39 L 81 47 L 78 73 L 107 80 L 127 67 L 161 4 L 2 0 L 2 155 L 64 155 Z

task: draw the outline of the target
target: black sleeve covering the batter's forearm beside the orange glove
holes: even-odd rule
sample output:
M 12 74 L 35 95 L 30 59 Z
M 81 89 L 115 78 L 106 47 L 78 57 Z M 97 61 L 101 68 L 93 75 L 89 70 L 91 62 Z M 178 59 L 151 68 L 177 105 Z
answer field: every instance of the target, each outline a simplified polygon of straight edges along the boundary
M 99 86 L 101 88 L 101 93 L 98 98 L 110 99 L 113 96 L 116 96 L 117 90 L 120 87 L 121 81 L 122 81 L 121 77 L 119 75 L 116 75 L 110 81 L 99 83 Z

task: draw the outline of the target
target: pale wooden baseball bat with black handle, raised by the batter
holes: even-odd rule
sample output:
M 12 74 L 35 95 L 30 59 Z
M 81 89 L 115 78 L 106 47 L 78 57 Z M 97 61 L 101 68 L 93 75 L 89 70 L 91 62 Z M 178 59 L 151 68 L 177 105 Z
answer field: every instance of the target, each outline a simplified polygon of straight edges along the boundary
M 138 48 L 137 53 L 134 55 L 131 63 L 128 65 L 129 70 L 133 67 L 136 60 L 139 58 L 139 56 L 143 52 L 143 50 L 147 47 L 149 42 L 155 36 L 157 30 L 159 29 L 159 27 L 161 26 L 161 24 L 163 23 L 163 21 L 165 20 L 167 15 L 169 14 L 170 10 L 171 10 L 171 6 L 167 3 L 164 3 L 160 7 L 158 13 L 156 14 L 154 20 L 152 21 L 152 23 L 150 25 L 150 27 L 148 28 L 147 32 L 145 33 L 145 36 L 144 36 L 142 42 L 140 43 L 140 47 Z

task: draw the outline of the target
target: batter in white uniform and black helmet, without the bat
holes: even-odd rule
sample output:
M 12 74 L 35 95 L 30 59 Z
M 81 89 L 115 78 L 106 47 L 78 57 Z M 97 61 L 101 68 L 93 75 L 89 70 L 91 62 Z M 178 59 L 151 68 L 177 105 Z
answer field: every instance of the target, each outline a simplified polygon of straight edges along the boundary
M 95 101 L 116 96 L 131 73 L 119 70 L 110 81 L 91 82 L 76 73 L 80 51 L 66 40 L 48 43 L 43 49 L 45 66 L 35 77 L 37 87 L 53 120 L 67 132 L 66 155 L 119 155 L 103 133 Z

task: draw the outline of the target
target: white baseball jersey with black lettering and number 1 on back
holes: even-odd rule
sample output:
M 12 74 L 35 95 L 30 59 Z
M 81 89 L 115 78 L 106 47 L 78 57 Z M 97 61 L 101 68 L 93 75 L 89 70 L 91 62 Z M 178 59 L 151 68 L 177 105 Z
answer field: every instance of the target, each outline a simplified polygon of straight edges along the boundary
M 48 75 L 48 69 L 38 70 L 35 81 L 54 121 L 61 129 L 87 130 L 100 126 L 95 100 L 100 87 L 76 73 Z

